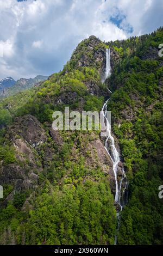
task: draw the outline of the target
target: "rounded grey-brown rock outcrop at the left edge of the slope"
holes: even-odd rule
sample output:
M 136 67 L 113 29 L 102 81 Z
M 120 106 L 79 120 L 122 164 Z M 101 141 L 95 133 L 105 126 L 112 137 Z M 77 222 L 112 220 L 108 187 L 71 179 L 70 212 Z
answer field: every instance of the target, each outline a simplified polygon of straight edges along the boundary
M 35 117 L 26 115 L 16 119 L 6 139 L 15 149 L 16 161 L 7 165 L 1 161 L 0 183 L 11 184 L 14 191 L 34 190 L 43 170 L 39 162 L 39 146 L 47 141 L 45 131 Z

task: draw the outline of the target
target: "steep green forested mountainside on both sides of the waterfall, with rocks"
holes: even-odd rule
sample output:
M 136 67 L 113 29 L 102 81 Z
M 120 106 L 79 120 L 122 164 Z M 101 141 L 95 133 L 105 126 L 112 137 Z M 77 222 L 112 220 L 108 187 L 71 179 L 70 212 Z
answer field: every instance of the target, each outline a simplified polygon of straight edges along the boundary
M 108 109 L 129 180 L 119 245 L 163 244 L 163 29 L 115 42 L 90 36 L 64 69 L 0 101 L 1 245 L 113 245 L 116 209 L 98 131 L 53 131 L 52 114 Z M 105 48 L 111 76 L 102 83 Z

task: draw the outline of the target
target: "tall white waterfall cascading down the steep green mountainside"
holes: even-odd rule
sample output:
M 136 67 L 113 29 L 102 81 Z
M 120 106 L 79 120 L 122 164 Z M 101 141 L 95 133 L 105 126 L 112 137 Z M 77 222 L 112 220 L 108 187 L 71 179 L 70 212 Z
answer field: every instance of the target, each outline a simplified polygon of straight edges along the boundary
M 106 48 L 106 68 L 105 68 L 105 79 L 111 75 L 110 66 L 110 48 Z M 109 90 L 109 89 L 108 89 Z M 109 90 L 109 93 L 111 91 Z M 109 98 L 110 99 L 110 98 Z M 127 203 L 127 188 L 128 180 L 124 169 L 122 168 L 121 176 L 118 175 L 118 163 L 120 162 L 120 155 L 115 147 L 114 137 L 111 135 L 111 125 L 109 120 L 106 118 L 107 113 L 107 103 L 104 103 L 102 107 L 103 122 L 106 125 L 106 140 L 105 140 L 105 150 L 112 160 L 112 168 L 115 176 L 115 205 L 117 209 L 117 231 L 120 228 L 120 211 L 122 211 L 123 206 Z M 117 232 L 116 232 L 117 233 Z M 117 244 L 117 234 L 115 235 L 115 245 Z

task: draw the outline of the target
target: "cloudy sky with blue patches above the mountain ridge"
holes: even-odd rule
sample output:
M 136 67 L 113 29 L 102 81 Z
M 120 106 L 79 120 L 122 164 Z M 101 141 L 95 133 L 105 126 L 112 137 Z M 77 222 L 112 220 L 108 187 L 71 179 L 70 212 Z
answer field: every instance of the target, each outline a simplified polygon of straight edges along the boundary
M 0 78 L 51 75 L 88 36 L 150 33 L 162 13 L 163 0 L 0 0 Z

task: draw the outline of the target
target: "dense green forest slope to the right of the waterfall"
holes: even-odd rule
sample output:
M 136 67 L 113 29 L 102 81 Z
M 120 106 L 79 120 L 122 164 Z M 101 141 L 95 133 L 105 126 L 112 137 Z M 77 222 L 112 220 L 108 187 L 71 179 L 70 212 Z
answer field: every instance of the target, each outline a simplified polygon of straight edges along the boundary
M 137 39 L 112 42 L 124 50 L 122 63 L 110 77 L 114 93 L 108 103 L 129 179 L 129 200 L 121 212 L 118 233 L 120 245 L 163 243 L 163 208 L 158 197 L 163 178 L 162 67 L 158 56 L 144 58 L 151 55 L 149 46 L 158 48 L 161 40 L 162 28 Z

